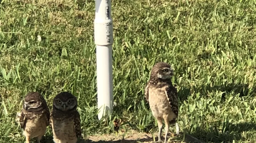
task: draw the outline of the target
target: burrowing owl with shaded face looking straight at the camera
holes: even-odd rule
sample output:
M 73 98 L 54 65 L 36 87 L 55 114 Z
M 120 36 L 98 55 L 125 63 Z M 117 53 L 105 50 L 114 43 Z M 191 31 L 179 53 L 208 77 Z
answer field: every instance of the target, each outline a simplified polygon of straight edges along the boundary
M 81 136 L 80 115 L 77 99 L 68 92 L 55 96 L 50 117 L 50 126 L 55 143 L 76 143 Z

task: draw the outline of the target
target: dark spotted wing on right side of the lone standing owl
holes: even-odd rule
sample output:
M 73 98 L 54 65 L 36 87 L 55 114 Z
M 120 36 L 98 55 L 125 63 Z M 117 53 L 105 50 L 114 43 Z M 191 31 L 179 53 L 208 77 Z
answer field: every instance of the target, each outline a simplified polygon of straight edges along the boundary
M 179 113 L 179 102 L 178 102 L 178 93 L 177 89 L 174 86 L 168 86 L 165 89 L 165 95 L 171 105 L 172 111 L 178 116 Z

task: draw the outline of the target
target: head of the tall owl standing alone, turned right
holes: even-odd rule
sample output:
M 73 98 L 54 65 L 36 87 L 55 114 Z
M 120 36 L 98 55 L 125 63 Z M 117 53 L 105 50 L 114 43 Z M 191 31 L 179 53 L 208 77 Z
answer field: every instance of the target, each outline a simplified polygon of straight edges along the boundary
M 171 79 L 173 76 L 173 69 L 171 65 L 164 62 L 159 62 L 155 64 L 151 70 L 150 78 L 158 78 L 158 79 Z

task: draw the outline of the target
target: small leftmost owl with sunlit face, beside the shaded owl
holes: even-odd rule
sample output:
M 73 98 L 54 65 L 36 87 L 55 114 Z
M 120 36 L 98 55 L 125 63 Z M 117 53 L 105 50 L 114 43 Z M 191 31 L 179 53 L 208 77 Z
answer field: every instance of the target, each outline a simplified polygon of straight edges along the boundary
M 26 95 L 23 109 L 16 115 L 16 121 L 23 129 L 26 143 L 31 138 L 36 138 L 40 143 L 49 125 L 50 112 L 44 97 L 38 92 L 30 92 Z

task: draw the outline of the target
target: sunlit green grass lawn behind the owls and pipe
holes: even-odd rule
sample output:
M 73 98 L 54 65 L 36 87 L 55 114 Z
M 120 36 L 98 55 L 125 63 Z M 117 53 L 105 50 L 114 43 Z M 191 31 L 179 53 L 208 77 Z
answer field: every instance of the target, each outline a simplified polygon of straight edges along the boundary
M 113 132 L 97 117 L 95 1 L 2 0 L 0 9 L 0 142 L 25 141 L 15 116 L 31 91 L 50 110 L 55 95 L 71 92 L 84 134 Z M 175 70 L 182 132 L 214 143 L 255 142 L 255 0 L 113 0 L 112 17 L 117 105 L 108 121 L 158 131 L 144 86 L 151 67 L 165 61 Z

